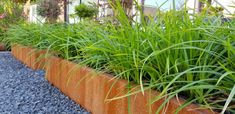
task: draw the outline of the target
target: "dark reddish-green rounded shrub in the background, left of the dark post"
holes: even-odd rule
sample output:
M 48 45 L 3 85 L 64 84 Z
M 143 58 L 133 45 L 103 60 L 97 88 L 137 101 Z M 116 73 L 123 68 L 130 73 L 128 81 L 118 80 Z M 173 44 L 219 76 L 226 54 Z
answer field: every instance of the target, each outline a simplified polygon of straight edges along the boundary
M 40 16 L 45 17 L 47 22 L 54 23 L 61 14 L 62 0 L 40 0 L 37 12 Z

